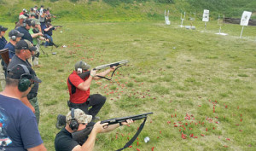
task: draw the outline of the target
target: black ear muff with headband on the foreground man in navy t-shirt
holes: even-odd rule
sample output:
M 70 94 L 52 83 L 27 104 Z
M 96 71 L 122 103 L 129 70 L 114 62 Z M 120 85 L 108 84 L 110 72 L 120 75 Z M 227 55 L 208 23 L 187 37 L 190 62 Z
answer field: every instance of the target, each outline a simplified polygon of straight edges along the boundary
M 26 66 L 21 65 L 21 64 L 19 64 L 19 65 L 20 65 L 20 67 L 23 68 L 25 73 L 20 76 L 20 82 L 18 84 L 18 89 L 20 90 L 20 92 L 24 92 L 31 86 L 30 79 L 32 78 L 32 75 L 29 73 L 28 68 Z

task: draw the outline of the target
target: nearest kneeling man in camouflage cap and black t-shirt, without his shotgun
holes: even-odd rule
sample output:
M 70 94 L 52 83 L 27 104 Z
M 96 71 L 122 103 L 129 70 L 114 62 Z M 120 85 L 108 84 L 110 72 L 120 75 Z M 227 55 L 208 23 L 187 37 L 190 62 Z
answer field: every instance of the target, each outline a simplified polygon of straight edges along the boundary
M 108 125 L 108 123 L 101 124 L 90 122 L 91 115 L 85 114 L 80 109 L 72 108 L 66 116 L 66 126 L 55 136 L 55 151 L 92 151 L 95 146 L 96 135 L 98 133 L 105 133 L 113 131 L 120 125 L 128 125 L 133 123 L 131 119 L 121 124 Z M 85 136 L 82 142 L 73 140 L 72 133 L 74 131 L 84 130 L 86 127 L 91 127 L 89 136 Z

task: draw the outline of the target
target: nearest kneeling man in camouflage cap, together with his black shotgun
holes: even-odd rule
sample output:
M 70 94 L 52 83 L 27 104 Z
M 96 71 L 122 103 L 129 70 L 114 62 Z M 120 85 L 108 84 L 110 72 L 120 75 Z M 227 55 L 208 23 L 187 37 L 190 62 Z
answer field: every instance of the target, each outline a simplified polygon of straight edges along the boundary
M 113 131 L 121 125 L 128 125 L 134 120 L 144 119 L 140 125 L 137 133 L 125 144 L 123 150 L 131 146 L 143 130 L 148 114 L 143 113 L 134 116 L 122 117 L 117 119 L 107 119 L 102 122 L 91 122 L 91 116 L 85 114 L 80 109 L 71 109 L 66 116 L 66 126 L 55 136 L 55 150 L 56 151 L 90 151 L 93 150 L 98 133 L 105 133 Z

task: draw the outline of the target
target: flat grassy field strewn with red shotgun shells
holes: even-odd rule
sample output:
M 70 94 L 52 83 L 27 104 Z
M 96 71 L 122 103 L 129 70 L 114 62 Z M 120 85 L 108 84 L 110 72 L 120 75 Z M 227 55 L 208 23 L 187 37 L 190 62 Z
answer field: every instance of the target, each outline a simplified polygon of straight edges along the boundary
M 43 48 L 43 67 L 35 69 L 43 80 L 38 91 L 39 131 L 50 151 L 59 131 L 56 116 L 68 111 L 67 77 L 81 60 L 91 67 L 130 61 L 112 81 L 102 79 L 91 86 L 91 94 L 108 97 L 98 114 L 101 119 L 154 112 L 126 150 L 256 149 L 255 26 L 246 26 L 240 39 L 239 25 L 226 24 L 222 32 L 229 35 L 216 35 L 217 21 L 207 23 L 205 30 L 196 20 L 194 31 L 179 27 L 179 20 L 171 26 L 164 21 L 62 25 L 54 33 L 55 44 L 62 47 Z M 99 134 L 95 150 L 123 147 L 141 122 Z M 143 141 L 146 136 L 148 143 Z

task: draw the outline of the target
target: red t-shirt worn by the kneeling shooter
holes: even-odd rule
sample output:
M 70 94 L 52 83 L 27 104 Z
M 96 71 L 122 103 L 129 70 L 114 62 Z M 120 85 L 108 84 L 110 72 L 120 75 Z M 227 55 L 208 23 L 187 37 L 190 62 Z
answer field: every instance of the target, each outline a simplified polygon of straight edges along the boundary
M 72 86 L 68 82 L 68 78 L 70 82 L 76 87 L 76 92 L 72 94 Z M 90 88 L 88 90 L 79 90 L 79 84 L 83 83 L 87 78 L 80 78 L 78 73 L 73 71 L 67 78 L 67 87 L 69 91 L 69 100 L 73 103 L 84 103 L 87 101 L 88 97 L 90 96 Z

